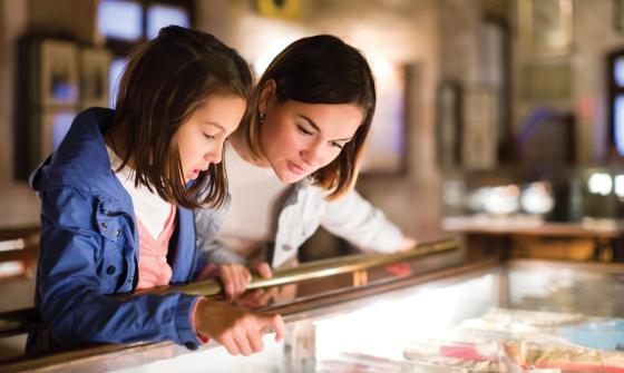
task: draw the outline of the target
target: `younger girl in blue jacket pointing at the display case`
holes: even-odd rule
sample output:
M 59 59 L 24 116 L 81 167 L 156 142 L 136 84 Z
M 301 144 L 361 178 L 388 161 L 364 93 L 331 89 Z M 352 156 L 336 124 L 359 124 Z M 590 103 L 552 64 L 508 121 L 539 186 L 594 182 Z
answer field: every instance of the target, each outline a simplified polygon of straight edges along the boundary
M 250 86 L 235 50 L 167 27 L 128 62 L 116 111 L 91 108 L 74 120 L 31 176 L 41 198 L 36 304 L 49 332 L 29 335 L 27 351 L 165 340 L 195 349 L 213 337 L 248 355 L 262 350 L 264 330 L 281 338 L 279 315 L 181 293 L 106 296 L 211 271 L 189 208 L 216 208 L 227 195 L 223 144 Z

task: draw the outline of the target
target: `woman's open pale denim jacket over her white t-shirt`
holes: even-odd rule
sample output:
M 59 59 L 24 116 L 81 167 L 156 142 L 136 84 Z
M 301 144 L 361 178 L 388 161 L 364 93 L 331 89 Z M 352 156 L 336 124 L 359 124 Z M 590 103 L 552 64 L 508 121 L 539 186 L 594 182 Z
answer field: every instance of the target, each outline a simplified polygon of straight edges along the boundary
M 326 192 L 313 186 L 310 180 L 294 185 L 280 212 L 275 242 L 264 247 L 269 251 L 265 257 L 271 258 L 272 267 L 277 268 L 296 261 L 299 247 L 319 226 L 363 252 L 388 253 L 401 244 L 402 232 L 355 190 L 352 189 L 333 202 L 328 202 L 325 196 Z M 227 205 L 221 209 L 195 210 L 197 247 L 213 263 L 245 264 L 245 258 L 216 239 L 227 214 Z

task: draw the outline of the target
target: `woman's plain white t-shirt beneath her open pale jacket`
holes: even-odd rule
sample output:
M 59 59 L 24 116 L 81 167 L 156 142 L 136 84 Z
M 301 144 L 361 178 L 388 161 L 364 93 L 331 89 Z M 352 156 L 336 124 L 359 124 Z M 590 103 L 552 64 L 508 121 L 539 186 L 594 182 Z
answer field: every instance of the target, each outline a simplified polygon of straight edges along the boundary
M 216 237 L 242 257 L 251 257 L 266 242 L 275 241 L 277 217 L 291 188 L 271 167 L 254 166 L 232 145 L 224 153 L 232 203 Z

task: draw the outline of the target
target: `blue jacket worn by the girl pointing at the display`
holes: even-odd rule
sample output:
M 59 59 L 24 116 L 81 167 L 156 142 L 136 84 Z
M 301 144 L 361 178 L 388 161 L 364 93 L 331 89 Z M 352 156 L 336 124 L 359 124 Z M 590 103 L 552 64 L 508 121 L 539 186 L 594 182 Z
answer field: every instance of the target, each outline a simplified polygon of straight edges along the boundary
M 30 352 L 91 342 L 199 343 L 191 322 L 196 296 L 106 296 L 131 292 L 138 281 L 133 202 L 110 169 L 103 137 L 114 114 L 82 111 L 31 175 L 41 199 L 36 305 L 51 333 L 31 334 Z M 177 218 L 167 257 L 172 284 L 192 281 L 206 264 L 195 246 L 193 213 L 178 208 Z

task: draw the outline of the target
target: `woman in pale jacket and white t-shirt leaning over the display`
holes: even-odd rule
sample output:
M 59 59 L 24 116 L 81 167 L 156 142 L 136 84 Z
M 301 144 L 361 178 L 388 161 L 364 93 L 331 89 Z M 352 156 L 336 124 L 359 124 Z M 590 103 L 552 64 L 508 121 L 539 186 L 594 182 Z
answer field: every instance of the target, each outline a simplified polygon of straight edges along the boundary
M 374 106 L 367 60 L 335 37 L 298 40 L 271 62 L 225 150 L 230 212 L 195 214 L 211 261 L 240 264 L 222 273 L 230 296 L 251 279 L 242 264 L 270 277 L 319 225 L 362 251 L 416 244 L 353 190 Z

